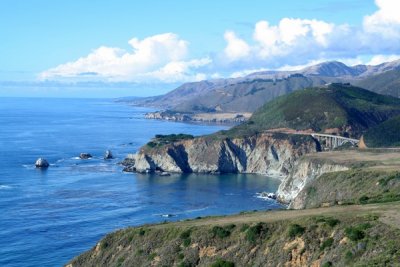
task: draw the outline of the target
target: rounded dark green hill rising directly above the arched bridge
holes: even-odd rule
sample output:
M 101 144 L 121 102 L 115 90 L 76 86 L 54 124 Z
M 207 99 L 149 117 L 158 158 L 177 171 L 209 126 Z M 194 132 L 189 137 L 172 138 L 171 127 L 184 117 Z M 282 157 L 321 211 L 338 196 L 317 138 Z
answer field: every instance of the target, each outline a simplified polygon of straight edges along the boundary
M 254 112 L 248 122 L 223 134 L 248 135 L 275 128 L 314 132 L 338 128 L 341 135 L 358 138 L 367 129 L 398 114 L 398 98 L 348 84 L 331 84 L 278 97 Z

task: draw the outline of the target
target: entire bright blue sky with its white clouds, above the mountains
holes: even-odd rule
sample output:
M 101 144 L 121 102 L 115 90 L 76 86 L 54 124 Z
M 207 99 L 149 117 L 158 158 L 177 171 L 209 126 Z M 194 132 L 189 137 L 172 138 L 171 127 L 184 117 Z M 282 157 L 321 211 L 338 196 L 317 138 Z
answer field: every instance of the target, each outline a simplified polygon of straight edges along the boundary
M 400 58 L 400 0 L 0 0 L 0 96 L 117 97 Z

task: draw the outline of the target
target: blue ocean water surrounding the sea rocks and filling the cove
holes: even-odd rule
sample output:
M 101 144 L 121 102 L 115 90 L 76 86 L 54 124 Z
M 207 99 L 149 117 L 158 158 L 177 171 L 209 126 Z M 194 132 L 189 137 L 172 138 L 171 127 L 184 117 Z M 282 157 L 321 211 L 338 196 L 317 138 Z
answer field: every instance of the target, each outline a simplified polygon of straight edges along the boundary
M 117 163 L 155 134 L 226 128 L 145 120 L 147 111 L 112 100 L 0 98 L 0 266 L 61 266 L 122 227 L 281 208 L 255 197 L 277 189 L 265 176 L 123 173 Z M 107 149 L 115 159 L 102 159 Z M 81 152 L 94 158 L 79 160 Z M 48 170 L 34 168 L 38 157 Z

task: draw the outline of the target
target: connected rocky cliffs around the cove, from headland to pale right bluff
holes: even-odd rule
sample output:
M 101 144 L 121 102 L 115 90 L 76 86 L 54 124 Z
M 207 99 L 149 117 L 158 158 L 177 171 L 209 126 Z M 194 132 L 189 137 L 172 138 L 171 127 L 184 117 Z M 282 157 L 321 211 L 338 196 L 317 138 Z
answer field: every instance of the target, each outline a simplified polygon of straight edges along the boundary
M 303 188 L 320 175 L 347 170 L 343 164 L 303 156 L 319 151 L 309 136 L 263 133 L 243 138 L 199 137 L 160 147 L 144 146 L 122 162 L 124 171 L 138 173 L 254 173 L 277 177 L 277 199 L 289 208 Z M 291 204 L 292 203 L 292 204 Z M 293 204 L 296 203 L 296 204 Z

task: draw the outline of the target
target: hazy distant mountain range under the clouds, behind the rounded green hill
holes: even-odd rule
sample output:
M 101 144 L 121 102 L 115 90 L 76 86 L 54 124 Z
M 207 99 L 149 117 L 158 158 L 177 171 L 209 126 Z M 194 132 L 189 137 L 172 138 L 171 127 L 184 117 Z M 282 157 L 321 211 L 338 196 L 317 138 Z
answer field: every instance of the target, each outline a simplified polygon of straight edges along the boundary
M 400 60 L 377 66 L 347 66 L 329 61 L 298 71 L 262 71 L 242 78 L 185 83 L 156 97 L 131 101 L 181 113 L 254 112 L 287 93 L 332 82 L 352 83 L 371 91 L 399 97 Z

